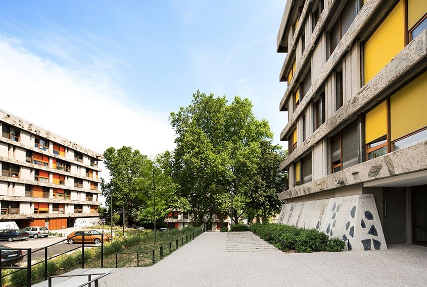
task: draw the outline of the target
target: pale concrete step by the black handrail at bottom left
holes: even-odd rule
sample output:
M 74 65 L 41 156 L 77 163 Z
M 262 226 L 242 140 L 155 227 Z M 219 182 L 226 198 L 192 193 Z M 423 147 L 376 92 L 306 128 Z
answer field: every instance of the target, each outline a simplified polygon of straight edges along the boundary
M 78 275 L 78 274 L 93 274 L 93 273 L 107 273 L 110 272 L 112 269 L 110 268 L 79 268 L 74 269 L 73 271 L 70 271 L 68 273 L 65 273 L 63 275 Z M 92 279 L 99 277 L 102 275 L 93 275 Z M 85 282 L 88 282 L 88 276 L 77 276 L 77 277 L 60 277 L 60 278 L 53 278 L 52 279 L 52 286 L 53 287 L 77 287 Z M 32 285 L 32 287 L 48 287 L 49 283 L 48 280 L 37 283 L 35 285 Z M 92 283 L 92 286 L 95 284 Z

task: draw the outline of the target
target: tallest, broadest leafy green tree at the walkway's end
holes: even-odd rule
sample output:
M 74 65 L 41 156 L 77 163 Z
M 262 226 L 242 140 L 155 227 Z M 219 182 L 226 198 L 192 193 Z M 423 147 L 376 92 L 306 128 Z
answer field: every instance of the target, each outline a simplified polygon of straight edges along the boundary
M 228 209 L 237 222 L 257 172 L 260 143 L 272 138 L 268 123 L 255 118 L 248 99 L 235 97 L 227 104 L 225 96 L 199 91 L 170 119 L 177 134 L 172 173 L 180 194 L 199 220 Z M 227 197 L 229 206 L 224 206 Z

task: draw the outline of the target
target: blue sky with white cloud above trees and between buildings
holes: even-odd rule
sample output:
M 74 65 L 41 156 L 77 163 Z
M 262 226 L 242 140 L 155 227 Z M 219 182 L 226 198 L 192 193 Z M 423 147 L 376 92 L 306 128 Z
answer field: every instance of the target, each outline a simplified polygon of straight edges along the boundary
M 99 153 L 152 157 L 174 149 L 169 114 L 200 90 L 249 98 L 284 146 L 284 4 L 1 1 L 0 109 Z

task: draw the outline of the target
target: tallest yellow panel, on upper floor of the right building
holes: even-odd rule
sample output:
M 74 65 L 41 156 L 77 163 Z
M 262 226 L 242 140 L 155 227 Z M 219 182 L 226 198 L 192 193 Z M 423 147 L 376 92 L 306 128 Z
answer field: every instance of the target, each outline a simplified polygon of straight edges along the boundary
M 405 46 L 403 0 L 397 4 L 364 46 L 365 84 Z

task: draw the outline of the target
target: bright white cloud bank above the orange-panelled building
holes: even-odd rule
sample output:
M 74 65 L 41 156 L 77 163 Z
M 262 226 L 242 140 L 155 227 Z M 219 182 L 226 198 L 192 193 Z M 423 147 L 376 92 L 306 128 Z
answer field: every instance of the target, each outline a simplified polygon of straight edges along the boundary
M 168 114 L 124 102 L 130 97 L 95 66 L 67 69 L 0 37 L 0 108 L 99 153 L 123 145 L 150 156 L 172 150 Z

